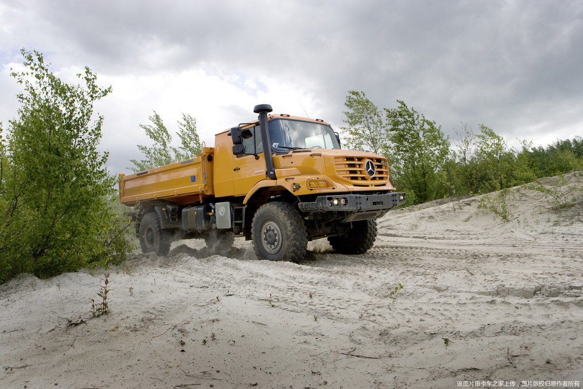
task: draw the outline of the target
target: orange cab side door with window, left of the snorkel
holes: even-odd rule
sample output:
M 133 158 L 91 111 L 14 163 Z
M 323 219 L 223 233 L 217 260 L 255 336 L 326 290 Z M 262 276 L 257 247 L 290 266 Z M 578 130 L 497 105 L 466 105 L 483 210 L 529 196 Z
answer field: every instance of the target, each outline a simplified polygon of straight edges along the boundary
M 261 180 L 265 180 L 265 157 L 261 144 L 261 129 L 257 125 L 250 128 L 252 136 L 243 139 L 245 152 L 233 158 L 234 195 L 243 196 Z M 259 159 L 255 159 L 255 155 Z

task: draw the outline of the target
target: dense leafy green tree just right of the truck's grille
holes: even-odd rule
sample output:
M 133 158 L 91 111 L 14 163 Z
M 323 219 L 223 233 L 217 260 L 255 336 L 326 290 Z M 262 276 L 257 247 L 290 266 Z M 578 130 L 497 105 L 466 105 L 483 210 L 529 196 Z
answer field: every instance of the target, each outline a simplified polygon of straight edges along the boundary
M 384 154 L 399 190 L 409 191 L 413 203 L 441 198 L 447 191 L 444 164 L 449 141 L 436 122 L 397 100 L 399 106 L 385 110 L 389 143 Z

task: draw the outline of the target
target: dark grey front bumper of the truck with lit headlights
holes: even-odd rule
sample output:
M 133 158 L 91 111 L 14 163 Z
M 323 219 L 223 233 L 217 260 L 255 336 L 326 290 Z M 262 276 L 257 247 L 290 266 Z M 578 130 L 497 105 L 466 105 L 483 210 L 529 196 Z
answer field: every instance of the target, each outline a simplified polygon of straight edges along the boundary
M 343 222 L 377 219 L 389 209 L 405 204 L 405 192 L 391 192 L 377 195 L 330 195 L 318 196 L 312 202 L 300 202 L 298 207 L 303 212 L 343 212 Z

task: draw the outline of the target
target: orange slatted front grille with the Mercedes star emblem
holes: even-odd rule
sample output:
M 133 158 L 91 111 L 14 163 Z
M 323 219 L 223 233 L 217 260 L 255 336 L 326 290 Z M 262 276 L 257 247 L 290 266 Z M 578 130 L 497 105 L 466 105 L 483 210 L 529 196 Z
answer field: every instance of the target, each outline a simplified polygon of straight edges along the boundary
M 368 176 L 366 162 L 371 160 L 375 167 L 374 175 Z M 350 184 L 359 187 L 373 187 L 385 185 L 389 181 L 387 160 L 380 157 L 335 157 L 336 174 L 350 181 Z

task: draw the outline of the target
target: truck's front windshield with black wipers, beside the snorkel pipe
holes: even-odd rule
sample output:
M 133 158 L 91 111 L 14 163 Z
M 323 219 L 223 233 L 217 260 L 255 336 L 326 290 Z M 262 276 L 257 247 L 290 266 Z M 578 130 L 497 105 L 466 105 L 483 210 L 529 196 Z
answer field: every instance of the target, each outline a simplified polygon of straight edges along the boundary
M 273 119 L 269 138 L 276 151 L 295 149 L 339 149 L 336 134 L 329 125 L 310 121 Z

